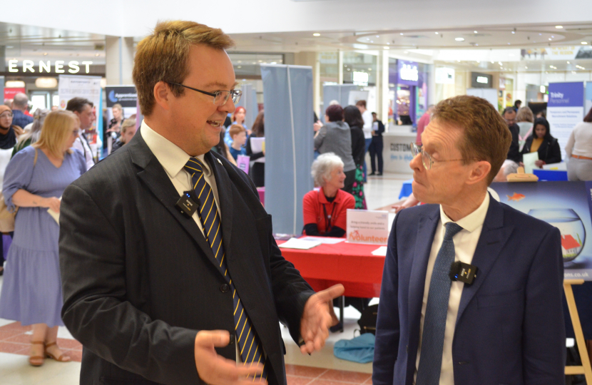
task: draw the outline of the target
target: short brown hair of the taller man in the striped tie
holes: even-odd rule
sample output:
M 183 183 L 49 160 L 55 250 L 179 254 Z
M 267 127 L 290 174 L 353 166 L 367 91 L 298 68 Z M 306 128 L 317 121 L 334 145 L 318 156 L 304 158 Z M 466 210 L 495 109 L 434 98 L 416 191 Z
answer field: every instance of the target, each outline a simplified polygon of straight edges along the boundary
M 196 44 L 226 49 L 234 42 L 221 29 L 193 21 L 163 21 L 156 24 L 150 36 L 138 43 L 132 76 L 144 116 L 150 116 L 154 108 L 156 83 L 183 83 L 189 73 L 190 48 Z M 175 97 L 183 95 L 185 88 L 169 86 Z

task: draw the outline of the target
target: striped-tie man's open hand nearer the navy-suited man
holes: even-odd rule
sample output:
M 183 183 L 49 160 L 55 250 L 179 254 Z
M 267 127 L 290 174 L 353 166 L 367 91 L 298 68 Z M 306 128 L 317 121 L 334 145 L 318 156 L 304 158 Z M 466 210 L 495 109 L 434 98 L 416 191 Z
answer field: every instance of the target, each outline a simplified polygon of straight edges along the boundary
M 329 337 L 329 327 L 337 324 L 333 309 L 333 299 L 343 295 L 345 288 L 336 284 L 329 289 L 313 294 L 305 304 L 300 320 L 300 335 L 304 344 L 300 347 L 302 354 L 310 354 L 325 346 Z

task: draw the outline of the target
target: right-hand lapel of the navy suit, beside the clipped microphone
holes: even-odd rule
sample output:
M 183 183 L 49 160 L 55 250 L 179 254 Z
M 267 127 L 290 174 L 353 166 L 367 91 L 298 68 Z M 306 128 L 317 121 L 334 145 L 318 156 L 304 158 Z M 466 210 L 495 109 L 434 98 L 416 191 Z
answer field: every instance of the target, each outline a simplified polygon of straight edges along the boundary
M 500 203 L 490 196 L 489 209 L 487 210 L 481 236 L 479 237 L 479 242 L 477 242 L 473 261 L 471 262 L 471 265 L 476 266 L 479 270 L 477 271 L 474 283 L 465 285 L 462 289 L 456 324 L 459 323 L 459 319 L 461 319 L 467 305 L 487 278 L 487 274 L 491 271 L 491 267 L 493 267 L 499 257 L 499 253 L 509 239 L 512 231 L 514 231 L 514 226 L 504 226 L 504 210 L 501 208 Z

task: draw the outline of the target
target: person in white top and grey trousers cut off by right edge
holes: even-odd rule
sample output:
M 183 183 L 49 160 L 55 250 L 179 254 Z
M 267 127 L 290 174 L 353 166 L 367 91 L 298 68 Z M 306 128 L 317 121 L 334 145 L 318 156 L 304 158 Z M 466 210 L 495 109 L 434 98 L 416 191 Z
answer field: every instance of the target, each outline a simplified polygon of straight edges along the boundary
M 592 108 L 571 131 L 566 160 L 568 180 L 592 180 Z

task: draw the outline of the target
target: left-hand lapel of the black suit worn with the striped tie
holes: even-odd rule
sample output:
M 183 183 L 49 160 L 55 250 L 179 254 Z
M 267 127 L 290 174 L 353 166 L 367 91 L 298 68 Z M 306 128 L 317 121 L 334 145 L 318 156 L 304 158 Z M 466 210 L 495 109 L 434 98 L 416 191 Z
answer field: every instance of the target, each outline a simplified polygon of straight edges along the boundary
M 127 147 L 127 146 L 126 146 Z M 154 156 L 146 142 L 144 142 L 142 135 L 134 135 L 128 150 L 132 158 L 132 162 L 138 165 L 142 170 L 138 171 L 138 178 L 140 178 L 155 197 L 158 198 L 166 209 L 170 212 L 175 220 L 179 222 L 183 229 L 193 238 L 195 243 L 198 244 L 204 255 L 213 263 L 214 266 L 218 266 L 214 258 L 214 254 L 208 242 L 205 241 L 203 233 L 200 231 L 198 225 L 193 219 L 185 217 L 185 215 L 178 212 L 175 204 L 179 200 L 179 194 L 170 182 L 167 173 L 160 165 L 158 159 Z M 216 269 L 218 270 L 218 268 Z M 219 270 L 218 270 L 219 271 Z

